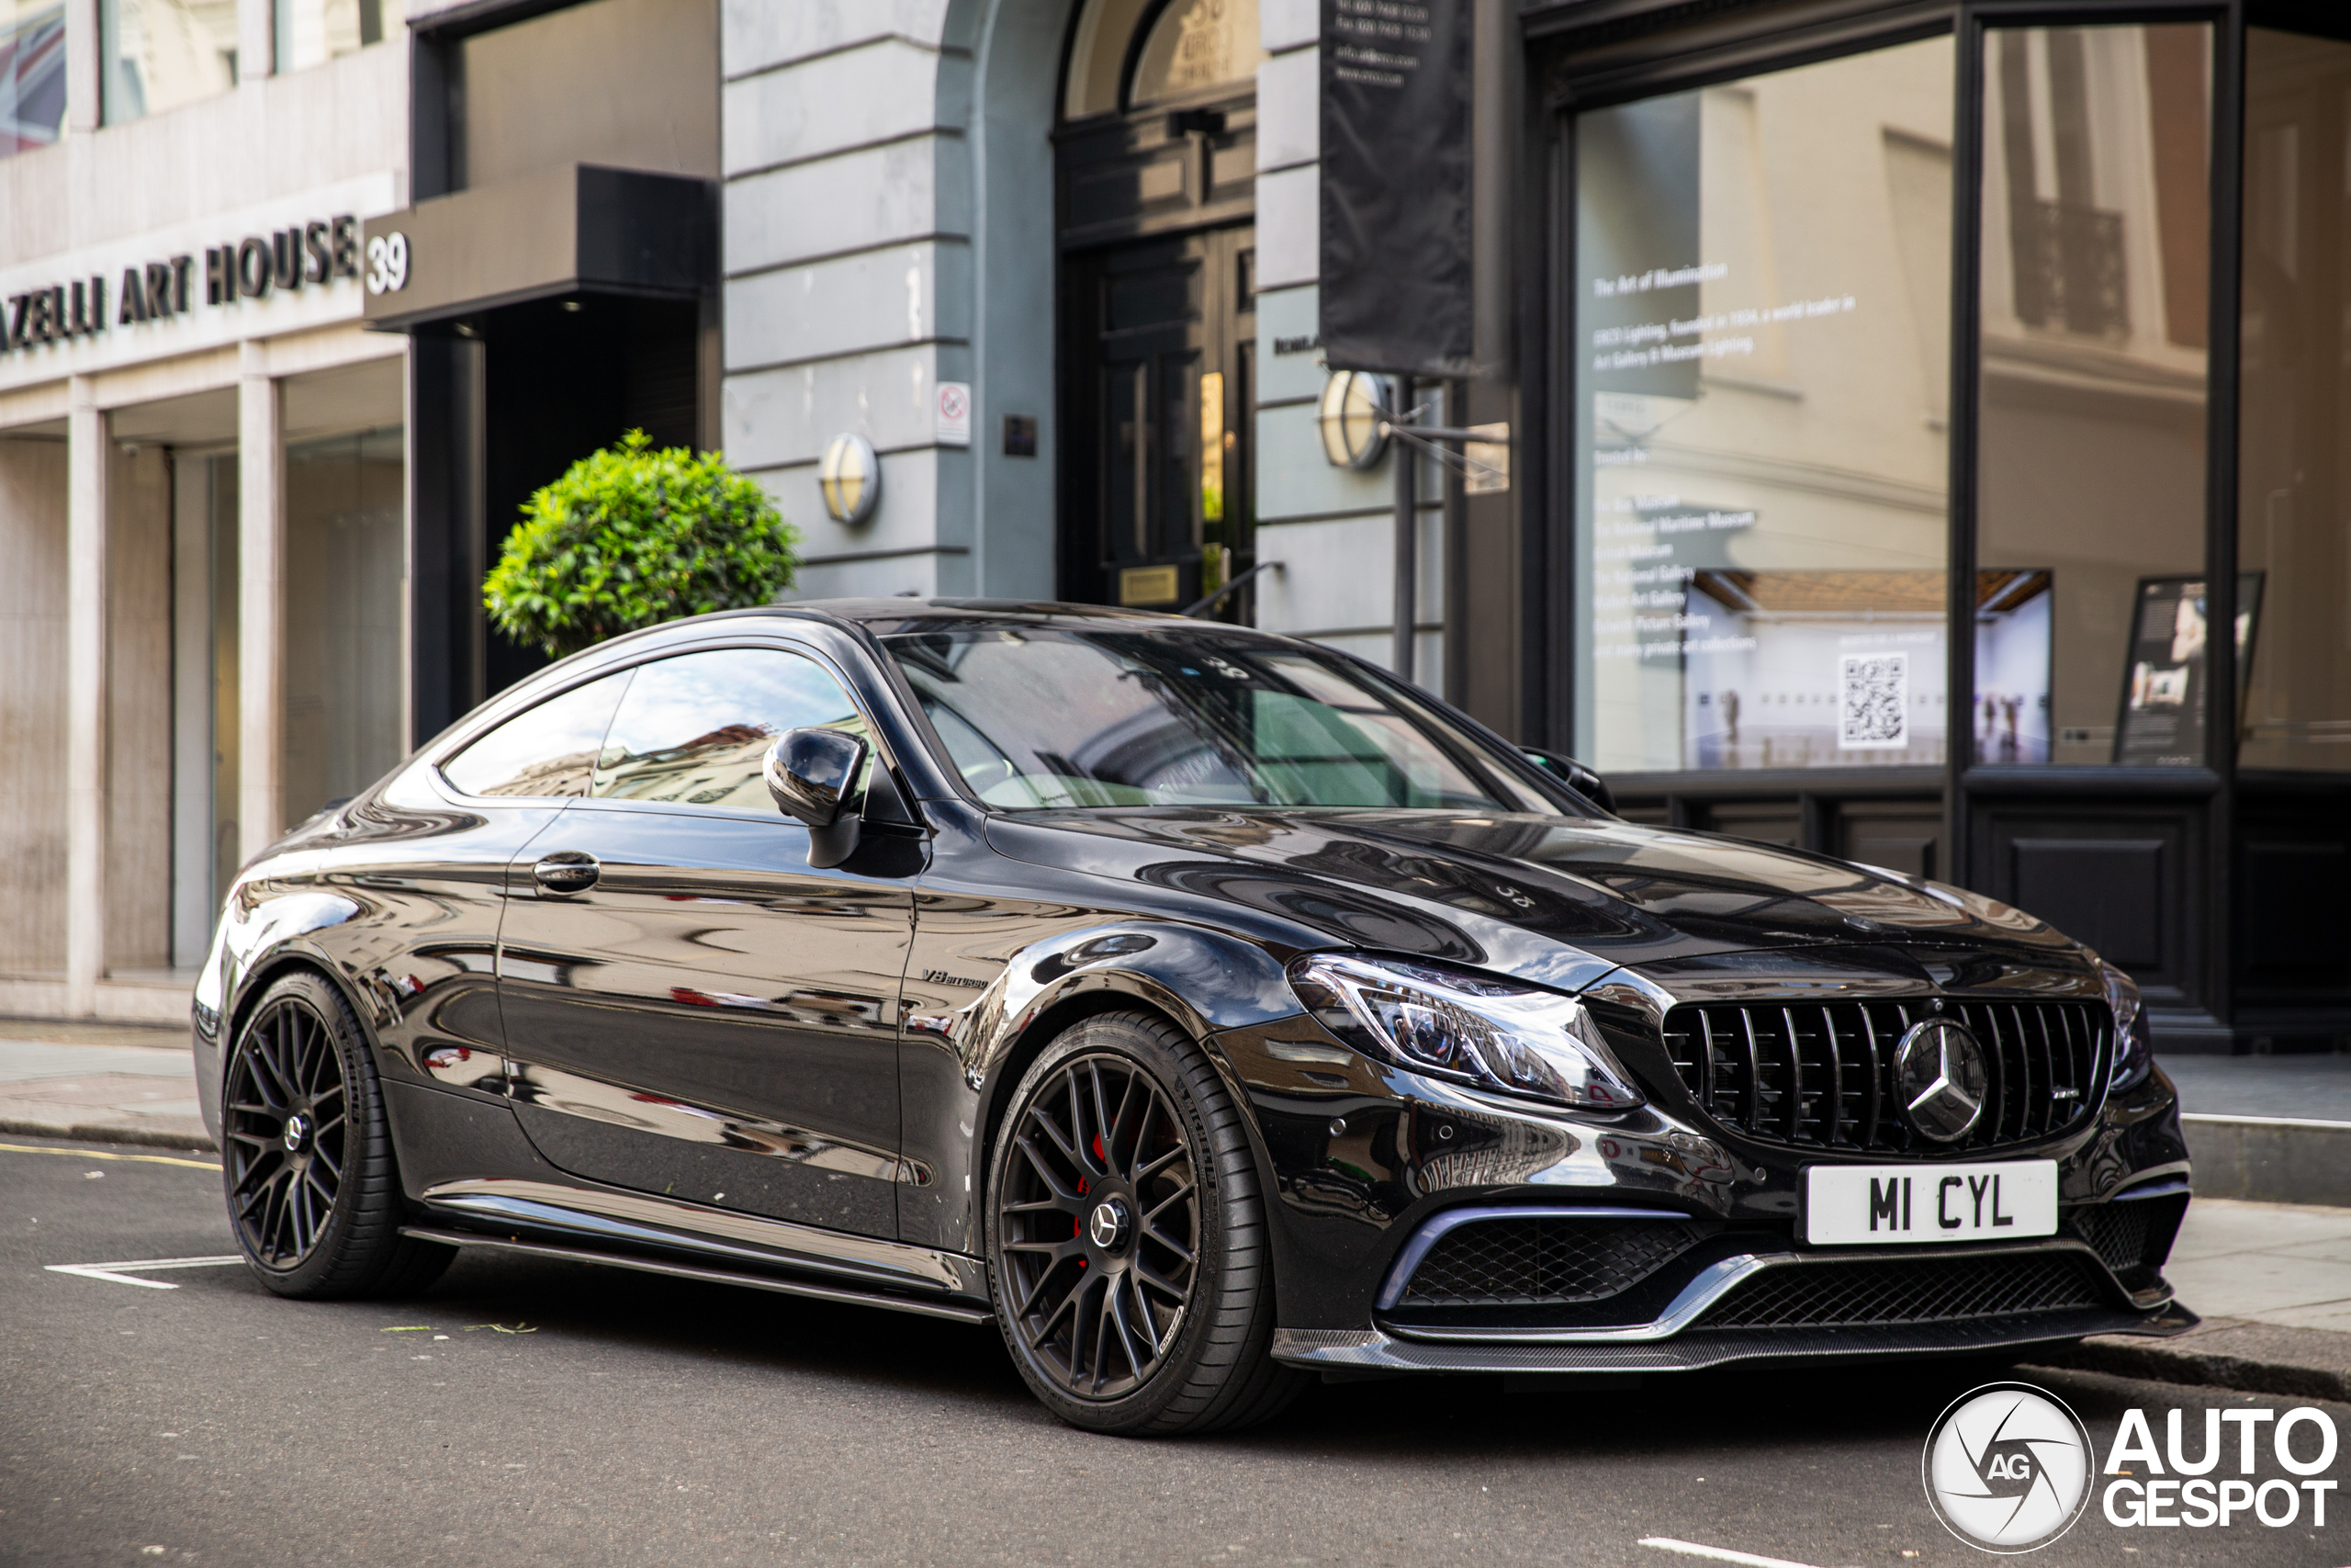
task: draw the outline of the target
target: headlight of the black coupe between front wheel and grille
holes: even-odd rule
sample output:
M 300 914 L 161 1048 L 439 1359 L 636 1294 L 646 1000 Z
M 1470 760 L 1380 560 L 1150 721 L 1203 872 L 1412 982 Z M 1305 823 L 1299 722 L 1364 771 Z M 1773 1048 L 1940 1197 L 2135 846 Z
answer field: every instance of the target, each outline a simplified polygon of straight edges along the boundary
M 1641 1105 L 1632 1074 L 1575 997 L 1434 964 L 1335 954 L 1293 961 L 1291 990 L 1373 1060 L 1578 1110 Z

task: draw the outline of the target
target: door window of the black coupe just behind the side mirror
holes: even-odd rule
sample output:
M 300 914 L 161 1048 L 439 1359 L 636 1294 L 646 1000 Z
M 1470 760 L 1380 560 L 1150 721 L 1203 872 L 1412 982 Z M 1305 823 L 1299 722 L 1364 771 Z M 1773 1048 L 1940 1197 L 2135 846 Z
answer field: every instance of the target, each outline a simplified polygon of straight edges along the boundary
M 865 736 L 865 719 L 813 658 L 712 649 L 639 665 L 597 759 L 597 799 L 661 799 L 773 816 L 759 778 L 788 729 Z

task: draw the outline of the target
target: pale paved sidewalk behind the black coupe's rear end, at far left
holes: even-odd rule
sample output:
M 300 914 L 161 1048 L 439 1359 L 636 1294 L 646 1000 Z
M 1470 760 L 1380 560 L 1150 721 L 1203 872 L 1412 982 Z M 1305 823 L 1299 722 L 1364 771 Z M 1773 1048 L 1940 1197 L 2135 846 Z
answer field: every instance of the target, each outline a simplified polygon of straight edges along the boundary
M 0 1133 L 209 1150 L 188 1030 L 0 1018 Z

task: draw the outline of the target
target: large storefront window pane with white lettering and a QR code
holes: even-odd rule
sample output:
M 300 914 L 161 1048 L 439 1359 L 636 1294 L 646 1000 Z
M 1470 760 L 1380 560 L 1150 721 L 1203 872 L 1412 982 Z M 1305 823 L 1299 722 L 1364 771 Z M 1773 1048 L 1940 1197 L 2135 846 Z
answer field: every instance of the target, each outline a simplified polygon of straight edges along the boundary
M 1951 42 L 1575 120 L 1578 755 L 1944 757 Z

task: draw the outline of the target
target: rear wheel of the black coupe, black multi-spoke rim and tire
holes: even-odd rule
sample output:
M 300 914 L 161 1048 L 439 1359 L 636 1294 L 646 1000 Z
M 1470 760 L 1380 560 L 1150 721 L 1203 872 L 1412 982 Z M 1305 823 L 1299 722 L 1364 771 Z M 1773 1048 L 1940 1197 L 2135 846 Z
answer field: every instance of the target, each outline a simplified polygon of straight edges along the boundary
M 221 1074 L 221 1185 L 237 1251 L 296 1300 L 404 1295 L 456 1248 L 400 1234 L 404 1199 L 367 1032 L 313 971 L 275 980 Z

